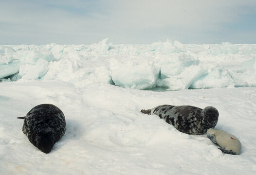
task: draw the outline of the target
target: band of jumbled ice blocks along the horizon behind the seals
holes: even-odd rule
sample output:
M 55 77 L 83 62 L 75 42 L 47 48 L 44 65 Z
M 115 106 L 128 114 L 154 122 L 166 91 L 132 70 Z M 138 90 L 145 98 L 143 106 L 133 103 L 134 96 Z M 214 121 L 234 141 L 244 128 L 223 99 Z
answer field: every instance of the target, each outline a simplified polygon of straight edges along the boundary
M 256 86 L 256 44 L 0 46 L 0 78 L 6 81 L 61 80 L 84 86 L 169 90 Z

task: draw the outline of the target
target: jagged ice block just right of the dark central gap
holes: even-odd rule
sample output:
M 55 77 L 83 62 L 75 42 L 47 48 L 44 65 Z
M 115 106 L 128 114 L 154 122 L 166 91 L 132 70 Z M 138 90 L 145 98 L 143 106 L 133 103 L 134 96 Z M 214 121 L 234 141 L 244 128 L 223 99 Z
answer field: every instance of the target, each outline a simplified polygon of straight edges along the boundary
M 189 88 L 195 80 L 206 73 L 206 70 L 199 65 L 199 60 L 190 54 L 171 53 L 156 56 L 154 61 L 161 68 L 161 80 L 158 81 L 157 86 L 168 90 Z

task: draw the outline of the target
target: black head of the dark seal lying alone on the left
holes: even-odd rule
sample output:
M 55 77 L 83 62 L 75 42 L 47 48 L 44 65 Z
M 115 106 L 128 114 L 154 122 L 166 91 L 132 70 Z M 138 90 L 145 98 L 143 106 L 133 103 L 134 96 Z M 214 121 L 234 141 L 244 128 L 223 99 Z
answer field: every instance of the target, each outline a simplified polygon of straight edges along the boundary
M 36 141 L 37 148 L 44 153 L 50 153 L 54 146 L 54 140 L 46 133 L 38 134 Z

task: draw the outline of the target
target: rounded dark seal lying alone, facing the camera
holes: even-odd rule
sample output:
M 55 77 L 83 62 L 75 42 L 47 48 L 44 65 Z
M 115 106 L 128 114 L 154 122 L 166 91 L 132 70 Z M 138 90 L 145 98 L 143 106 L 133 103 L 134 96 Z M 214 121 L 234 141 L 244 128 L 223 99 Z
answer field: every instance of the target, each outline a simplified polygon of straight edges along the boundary
M 37 105 L 18 119 L 24 119 L 22 131 L 28 140 L 44 153 L 50 153 L 66 131 L 65 116 L 55 105 Z

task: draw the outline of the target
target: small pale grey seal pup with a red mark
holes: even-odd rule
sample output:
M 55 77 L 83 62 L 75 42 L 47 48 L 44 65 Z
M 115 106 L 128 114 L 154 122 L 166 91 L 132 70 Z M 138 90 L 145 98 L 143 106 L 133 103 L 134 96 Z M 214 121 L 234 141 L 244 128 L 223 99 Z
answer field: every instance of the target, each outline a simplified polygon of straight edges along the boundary
M 241 153 L 242 144 L 238 138 L 226 131 L 220 129 L 208 129 L 207 137 L 215 144 L 219 145 L 222 153 L 239 155 Z

